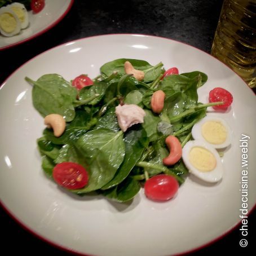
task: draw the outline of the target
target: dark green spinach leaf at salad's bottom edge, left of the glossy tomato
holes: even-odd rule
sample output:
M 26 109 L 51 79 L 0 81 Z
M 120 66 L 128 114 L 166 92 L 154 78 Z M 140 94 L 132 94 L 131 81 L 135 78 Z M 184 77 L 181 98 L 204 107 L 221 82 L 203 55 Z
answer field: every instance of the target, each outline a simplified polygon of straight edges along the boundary
M 133 199 L 140 191 L 140 184 L 129 176 L 116 187 L 101 191 L 103 195 L 113 201 L 126 202 Z

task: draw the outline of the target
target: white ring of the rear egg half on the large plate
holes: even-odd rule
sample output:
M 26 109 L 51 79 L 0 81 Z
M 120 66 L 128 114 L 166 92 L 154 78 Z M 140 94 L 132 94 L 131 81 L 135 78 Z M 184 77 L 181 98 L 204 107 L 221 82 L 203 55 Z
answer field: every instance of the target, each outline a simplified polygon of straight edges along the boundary
M 223 142 L 222 144 L 213 144 L 208 142 L 204 136 L 202 135 L 202 125 L 204 125 L 205 122 L 208 121 L 216 121 L 216 122 L 220 122 L 222 123 L 222 125 L 226 128 L 227 131 L 227 138 L 225 140 L 225 142 Z M 212 145 L 214 148 L 220 149 L 220 148 L 226 148 L 228 147 L 228 145 L 231 144 L 231 129 L 228 126 L 227 122 L 225 120 L 223 120 L 222 118 L 219 117 L 210 117 L 210 116 L 206 116 L 204 118 L 202 118 L 200 121 L 198 121 L 192 128 L 192 136 L 195 140 L 202 140 L 210 145 Z

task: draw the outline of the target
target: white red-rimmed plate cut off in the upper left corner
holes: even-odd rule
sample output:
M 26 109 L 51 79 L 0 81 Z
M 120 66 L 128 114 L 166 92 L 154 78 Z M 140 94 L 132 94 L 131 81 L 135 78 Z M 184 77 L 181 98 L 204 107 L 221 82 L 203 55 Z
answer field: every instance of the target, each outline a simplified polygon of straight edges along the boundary
M 29 41 L 58 24 L 70 10 L 74 0 L 46 0 L 45 7 L 38 14 L 28 11 L 29 27 L 13 37 L 0 34 L 0 50 Z

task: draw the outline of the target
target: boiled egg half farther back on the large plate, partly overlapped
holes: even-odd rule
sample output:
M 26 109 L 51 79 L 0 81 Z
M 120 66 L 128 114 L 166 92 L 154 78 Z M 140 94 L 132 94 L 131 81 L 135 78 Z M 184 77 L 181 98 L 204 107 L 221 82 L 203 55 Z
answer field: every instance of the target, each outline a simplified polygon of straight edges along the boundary
M 231 129 L 227 122 L 219 117 L 206 116 L 192 128 L 195 140 L 202 140 L 214 148 L 226 148 L 231 144 Z

